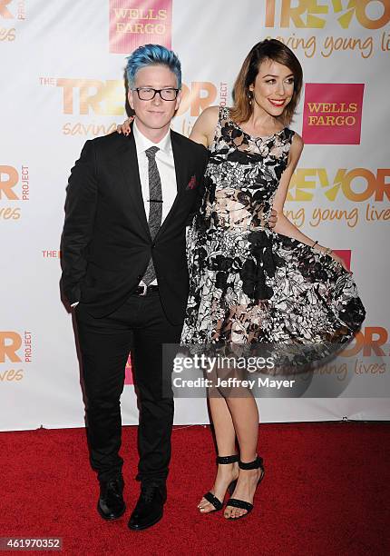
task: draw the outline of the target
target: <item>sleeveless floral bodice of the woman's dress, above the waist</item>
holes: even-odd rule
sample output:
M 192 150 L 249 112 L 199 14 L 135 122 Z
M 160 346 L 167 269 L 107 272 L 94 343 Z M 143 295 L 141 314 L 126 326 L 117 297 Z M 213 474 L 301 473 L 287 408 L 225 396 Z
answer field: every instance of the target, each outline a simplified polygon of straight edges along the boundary
M 231 231 L 265 227 L 293 135 L 284 128 L 268 137 L 252 137 L 231 120 L 228 108 L 219 109 L 202 207 L 209 226 Z

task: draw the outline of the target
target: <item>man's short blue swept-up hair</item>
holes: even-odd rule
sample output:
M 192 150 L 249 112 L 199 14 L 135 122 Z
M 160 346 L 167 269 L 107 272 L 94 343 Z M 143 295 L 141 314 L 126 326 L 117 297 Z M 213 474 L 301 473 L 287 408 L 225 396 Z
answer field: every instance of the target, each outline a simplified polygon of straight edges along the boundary
M 126 75 L 131 89 L 135 84 L 135 75 L 142 67 L 147 65 L 166 65 L 176 75 L 178 89 L 181 89 L 180 60 L 174 52 L 161 45 L 139 46 L 127 58 Z

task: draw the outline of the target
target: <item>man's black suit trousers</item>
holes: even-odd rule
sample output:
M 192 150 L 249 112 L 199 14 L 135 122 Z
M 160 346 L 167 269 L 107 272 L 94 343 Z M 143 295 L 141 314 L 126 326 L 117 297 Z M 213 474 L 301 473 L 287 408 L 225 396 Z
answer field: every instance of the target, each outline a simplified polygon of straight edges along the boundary
M 173 399 L 163 387 L 162 344 L 179 343 L 181 325 L 167 320 L 157 291 L 132 294 L 117 311 L 99 319 L 87 313 L 83 303 L 77 305 L 75 315 L 91 464 L 99 481 L 122 472 L 120 397 L 132 350 L 140 407 L 137 480 L 165 482 L 171 459 Z

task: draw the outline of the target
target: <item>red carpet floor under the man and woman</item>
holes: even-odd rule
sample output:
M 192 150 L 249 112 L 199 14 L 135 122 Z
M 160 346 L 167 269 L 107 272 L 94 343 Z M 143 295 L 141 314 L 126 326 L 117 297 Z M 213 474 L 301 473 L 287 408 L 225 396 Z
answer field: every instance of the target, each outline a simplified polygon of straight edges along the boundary
M 63 537 L 62 553 L 379 556 L 389 543 L 389 424 L 265 424 L 266 476 L 248 518 L 200 515 L 212 485 L 209 428 L 176 427 L 163 520 L 127 529 L 138 497 L 135 427 L 123 429 L 128 511 L 104 522 L 82 429 L 2 432 L 0 536 Z M 46 553 L 44 551 L 35 551 Z M 53 553 L 53 552 L 52 552 Z

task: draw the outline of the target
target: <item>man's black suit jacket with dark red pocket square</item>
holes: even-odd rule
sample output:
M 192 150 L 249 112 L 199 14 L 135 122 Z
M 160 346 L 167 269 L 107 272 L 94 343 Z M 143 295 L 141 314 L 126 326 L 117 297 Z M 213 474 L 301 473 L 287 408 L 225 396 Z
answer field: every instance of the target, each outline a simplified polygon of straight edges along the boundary
M 152 256 L 168 320 L 184 320 L 189 290 L 185 226 L 199 209 L 207 150 L 171 131 L 178 192 L 154 241 L 141 194 L 133 135 L 87 141 L 65 202 L 62 287 L 69 303 L 102 317 L 140 283 Z

